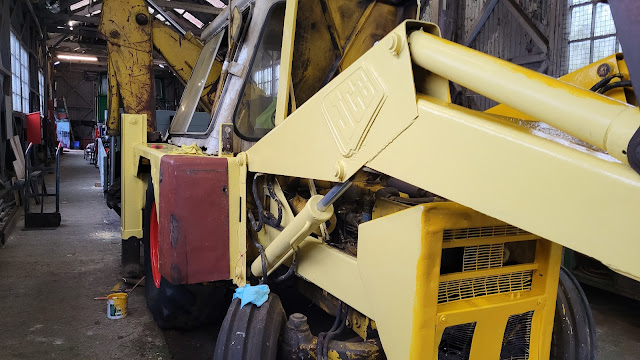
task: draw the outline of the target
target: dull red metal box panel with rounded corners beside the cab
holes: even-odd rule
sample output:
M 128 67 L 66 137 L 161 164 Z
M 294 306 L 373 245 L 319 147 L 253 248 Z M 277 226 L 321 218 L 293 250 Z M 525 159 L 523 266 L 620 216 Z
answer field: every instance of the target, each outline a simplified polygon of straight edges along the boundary
M 227 159 L 166 155 L 160 163 L 160 273 L 172 284 L 229 279 Z

